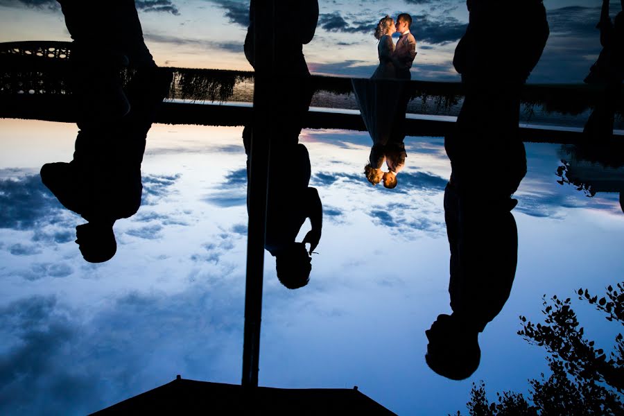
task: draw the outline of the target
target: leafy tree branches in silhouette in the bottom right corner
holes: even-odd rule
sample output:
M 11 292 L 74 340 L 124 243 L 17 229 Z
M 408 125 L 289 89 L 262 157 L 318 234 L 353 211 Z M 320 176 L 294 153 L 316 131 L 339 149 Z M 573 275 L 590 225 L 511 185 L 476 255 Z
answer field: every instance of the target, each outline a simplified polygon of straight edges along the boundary
M 624 282 L 617 288 L 607 287 L 605 297 L 598 299 L 587 289 L 577 292 L 579 300 L 588 302 L 604 313 L 610 322 L 624 325 Z M 593 340 L 584 337 L 571 299 L 556 295 L 546 300 L 544 323 L 533 324 L 521 316 L 523 329 L 519 336 L 532 345 L 546 348 L 552 374 L 529 380 L 528 398 L 521 393 L 496 393 L 490 403 L 485 383 L 473 383 L 470 401 L 471 416 L 489 415 L 623 415 L 624 403 L 624 340 L 616 336 L 614 351 L 605 354 Z M 457 415 L 461 415 L 458 411 Z

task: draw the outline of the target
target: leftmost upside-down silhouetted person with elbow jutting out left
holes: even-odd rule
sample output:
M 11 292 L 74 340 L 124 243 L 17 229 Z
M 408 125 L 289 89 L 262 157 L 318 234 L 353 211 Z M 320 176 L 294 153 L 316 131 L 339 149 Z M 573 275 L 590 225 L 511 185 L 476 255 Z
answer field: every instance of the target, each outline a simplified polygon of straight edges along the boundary
M 146 136 L 171 72 L 153 61 L 134 1 L 105 8 L 60 3 L 74 40 L 70 59 L 80 131 L 73 160 L 45 164 L 41 177 L 64 207 L 87 220 L 76 227 L 76 243 L 86 261 L 100 263 L 116 252 L 115 221 L 134 215 L 141 205 Z M 134 71 L 125 88 L 122 65 Z

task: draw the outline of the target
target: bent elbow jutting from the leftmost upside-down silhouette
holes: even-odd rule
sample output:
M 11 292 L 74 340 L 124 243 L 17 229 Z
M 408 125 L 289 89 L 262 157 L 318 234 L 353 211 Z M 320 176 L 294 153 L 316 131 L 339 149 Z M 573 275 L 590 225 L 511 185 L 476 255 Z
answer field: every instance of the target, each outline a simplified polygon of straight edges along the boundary
M 41 181 L 65 208 L 80 214 L 84 207 L 76 186 L 76 173 L 65 162 L 46 163 L 41 168 Z

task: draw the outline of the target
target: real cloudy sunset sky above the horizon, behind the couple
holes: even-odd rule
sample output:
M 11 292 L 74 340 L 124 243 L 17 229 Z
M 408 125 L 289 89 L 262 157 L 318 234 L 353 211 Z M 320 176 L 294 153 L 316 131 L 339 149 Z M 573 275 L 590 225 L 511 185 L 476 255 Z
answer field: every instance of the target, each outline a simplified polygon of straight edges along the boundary
M 408 12 L 418 55 L 413 79 L 458 80 L 451 60 L 465 31 L 467 10 L 460 0 L 320 1 L 319 24 L 304 47 L 313 73 L 367 77 L 377 64 L 372 31 L 384 15 Z M 580 83 L 600 52 L 598 0 L 546 0 L 551 37 L 530 82 Z M 176 67 L 243 69 L 248 1 L 136 1 L 146 43 L 158 64 Z M 612 0 L 612 16 L 620 7 Z M 288 35 L 291 23 L 281 33 Z M 530 30 L 530 28 L 528 28 Z M 0 0 L 0 42 L 69 40 L 55 0 Z M 495 53 L 495 51 L 493 51 Z

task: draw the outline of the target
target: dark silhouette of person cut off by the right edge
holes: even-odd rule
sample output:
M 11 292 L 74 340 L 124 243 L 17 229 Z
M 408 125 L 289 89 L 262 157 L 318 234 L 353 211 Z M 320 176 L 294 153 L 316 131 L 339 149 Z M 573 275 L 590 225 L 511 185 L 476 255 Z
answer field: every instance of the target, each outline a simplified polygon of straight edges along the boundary
M 624 0 L 621 0 L 624 10 Z M 609 18 L 609 0 L 603 0 L 600 12 L 600 44 L 603 50 L 584 79 L 587 84 L 598 85 L 602 92 L 585 123 L 583 133 L 590 141 L 604 141 L 613 136 L 615 112 L 622 105 L 624 80 L 624 11 L 618 12 L 614 22 Z

